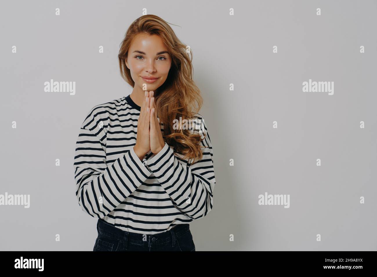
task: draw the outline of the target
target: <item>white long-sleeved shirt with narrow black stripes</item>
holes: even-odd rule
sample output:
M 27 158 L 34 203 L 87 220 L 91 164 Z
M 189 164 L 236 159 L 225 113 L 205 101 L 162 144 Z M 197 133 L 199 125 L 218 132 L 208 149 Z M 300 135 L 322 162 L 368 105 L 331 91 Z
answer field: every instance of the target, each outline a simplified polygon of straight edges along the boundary
M 141 161 L 133 150 L 140 109 L 126 96 L 89 111 L 76 143 L 76 196 L 92 217 L 124 231 L 156 234 L 212 210 L 213 151 L 205 121 L 197 114 L 201 126 L 193 129 L 202 130 L 202 138 L 206 134 L 200 161 L 190 163 L 166 142 L 159 153 L 149 152 Z

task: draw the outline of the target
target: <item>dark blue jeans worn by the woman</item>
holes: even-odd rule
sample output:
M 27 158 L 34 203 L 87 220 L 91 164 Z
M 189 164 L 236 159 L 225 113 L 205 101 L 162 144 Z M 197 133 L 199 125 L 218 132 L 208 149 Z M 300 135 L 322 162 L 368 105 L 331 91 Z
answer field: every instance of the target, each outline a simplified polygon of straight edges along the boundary
M 159 234 L 123 231 L 103 219 L 97 222 L 93 251 L 195 251 L 190 224 L 178 224 Z

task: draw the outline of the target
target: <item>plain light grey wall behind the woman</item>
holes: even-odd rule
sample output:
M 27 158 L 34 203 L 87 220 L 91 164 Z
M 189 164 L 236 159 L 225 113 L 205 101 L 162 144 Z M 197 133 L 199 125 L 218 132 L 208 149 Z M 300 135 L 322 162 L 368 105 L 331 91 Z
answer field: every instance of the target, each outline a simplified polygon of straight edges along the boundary
M 93 106 L 132 92 L 117 55 L 143 8 L 179 25 L 204 98 L 216 186 L 190 223 L 196 250 L 376 250 L 375 1 L 3 2 L 0 194 L 30 207 L 0 206 L 1 250 L 92 251 L 75 142 Z M 51 79 L 75 94 L 44 92 Z M 310 79 L 333 95 L 303 92 Z M 289 208 L 259 205 L 265 193 Z

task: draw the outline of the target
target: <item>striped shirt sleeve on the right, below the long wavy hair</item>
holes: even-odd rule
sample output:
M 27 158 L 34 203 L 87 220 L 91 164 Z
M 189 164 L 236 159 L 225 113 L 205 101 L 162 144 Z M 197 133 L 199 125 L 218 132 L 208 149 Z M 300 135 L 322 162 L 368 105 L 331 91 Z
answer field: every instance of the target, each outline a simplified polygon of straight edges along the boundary
M 160 185 L 169 194 L 178 210 L 192 219 L 207 215 L 213 207 L 213 189 L 216 184 L 213 167 L 213 150 L 204 119 L 201 118 L 199 132 L 203 157 L 190 165 L 181 163 L 174 155 L 173 149 L 165 142 L 157 155 L 147 160 L 147 165 Z

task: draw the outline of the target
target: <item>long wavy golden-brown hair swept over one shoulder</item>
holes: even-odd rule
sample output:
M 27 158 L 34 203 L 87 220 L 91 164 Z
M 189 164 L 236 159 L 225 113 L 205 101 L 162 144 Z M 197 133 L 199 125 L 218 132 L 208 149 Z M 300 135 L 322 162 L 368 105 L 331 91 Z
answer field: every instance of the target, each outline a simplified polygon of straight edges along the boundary
M 143 15 L 133 21 L 120 45 L 118 54 L 120 73 L 122 78 L 134 87 L 135 82 L 125 63 L 133 38 L 138 34 L 156 34 L 162 38 L 172 57 L 168 77 L 154 93 L 156 113 L 164 130 L 162 137 L 168 145 L 173 146 L 176 153 L 182 155 L 184 159 L 195 162 L 196 159 L 202 158 L 200 142 L 204 137 L 190 129 L 174 130 L 173 121 L 174 119 L 179 121 L 179 117 L 182 118 L 182 122 L 184 119 L 190 121 L 198 118 L 196 114 L 202 107 L 203 99 L 199 88 L 192 80 L 191 49 L 189 57 L 186 45 L 178 39 L 169 24 L 153 14 Z

